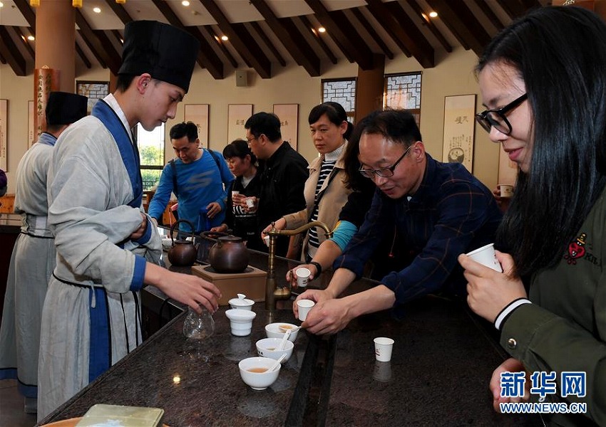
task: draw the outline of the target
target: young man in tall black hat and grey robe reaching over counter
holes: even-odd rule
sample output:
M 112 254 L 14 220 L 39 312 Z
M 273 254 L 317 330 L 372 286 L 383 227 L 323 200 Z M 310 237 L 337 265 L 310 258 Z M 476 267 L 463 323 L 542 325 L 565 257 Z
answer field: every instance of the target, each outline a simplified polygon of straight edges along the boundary
M 162 242 L 143 211 L 131 133 L 175 117 L 199 48 L 168 24 L 128 23 L 115 93 L 58 139 L 48 170 L 57 265 L 42 312 L 38 421 L 141 343 L 143 285 L 198 312 L 217 310 L 215 285 L 158 265 Z

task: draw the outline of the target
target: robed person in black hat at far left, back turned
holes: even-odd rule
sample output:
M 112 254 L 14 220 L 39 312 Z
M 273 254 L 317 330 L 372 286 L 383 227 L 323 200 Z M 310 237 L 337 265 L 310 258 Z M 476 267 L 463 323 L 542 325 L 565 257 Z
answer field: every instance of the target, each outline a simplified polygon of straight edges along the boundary
M 46 172 L 59 135 L 86 116 L 86 96 L 51 92 L 46 103 L 46 131 L 19 162 L 15 213 L 21 233 L 11 256 L 0 329 L 0 379 L 19 379 L 25 411 L 36 412 L 38 348 L 46 287 L 55 267 L 55 242 L 46 225 Z

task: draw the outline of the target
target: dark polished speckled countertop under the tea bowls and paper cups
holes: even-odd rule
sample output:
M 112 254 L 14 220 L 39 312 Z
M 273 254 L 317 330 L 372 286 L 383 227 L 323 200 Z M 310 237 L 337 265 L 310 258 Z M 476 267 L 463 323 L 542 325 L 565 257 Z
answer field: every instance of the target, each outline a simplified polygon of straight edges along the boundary
M 263 268 L 265 255 L 252 255 L 251 265 Z M 277 260 L 279 280 L 287 268 Z M 361 280 L 354 288 L 370 285 Z M 541 425 L 538 417 L 494 413 L 488 380 L 503 352 L 460 302 L 426 297 L 404 307 L 404 320 L 379 312 L 336 337 L 302 330 L 265 391 L 242 382 L 237 362 L 256 355 L 267 323 L 293 316 L 287 307 L 267 312 L 262 302 L 254 310 L 250 336 L 232 336 L 221 307 L 215 335 L 202 342 L 183 336 L 185 313 L 178 315 L 43 423 L 104 403 L 164 408 L 163 421 L 172 427 Z M 391 362 L 375 362 L 379 336 L 396 341 Z

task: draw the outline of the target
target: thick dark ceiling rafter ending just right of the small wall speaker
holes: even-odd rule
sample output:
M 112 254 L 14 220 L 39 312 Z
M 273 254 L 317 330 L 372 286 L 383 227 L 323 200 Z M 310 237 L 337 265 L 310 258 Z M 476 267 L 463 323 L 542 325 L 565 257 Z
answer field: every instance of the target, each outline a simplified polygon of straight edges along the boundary
M 242 58 L 247 58 L 248 62 L 255 68 L 255 71 L 261 78 L 272 77 L 272 63 L 265 56 L 260 46 L 255 41 L 243 23 L 230 23 L 223 11 L 214 0 L 200 0 L 202 6 L 210 13 L 221 31 L 230 38 L 230 43 Z

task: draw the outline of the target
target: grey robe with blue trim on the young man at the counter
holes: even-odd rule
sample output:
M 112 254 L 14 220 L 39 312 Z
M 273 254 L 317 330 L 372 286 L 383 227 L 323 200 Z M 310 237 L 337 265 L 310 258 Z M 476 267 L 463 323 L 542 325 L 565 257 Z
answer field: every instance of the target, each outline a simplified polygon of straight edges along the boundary
M 150 218 L 148 233 L 129 239 L 143 211 L 129 206 L 137 196 L 140 206 L 138 154 L 133 164 L 128 122 L 112 95 L 106 102 L 120 129 L 84 117 L 58 139 L 48 170 L 57 266 L 42 312 L 38 420 L 140 344 L 145 261 L 162 253 Z

